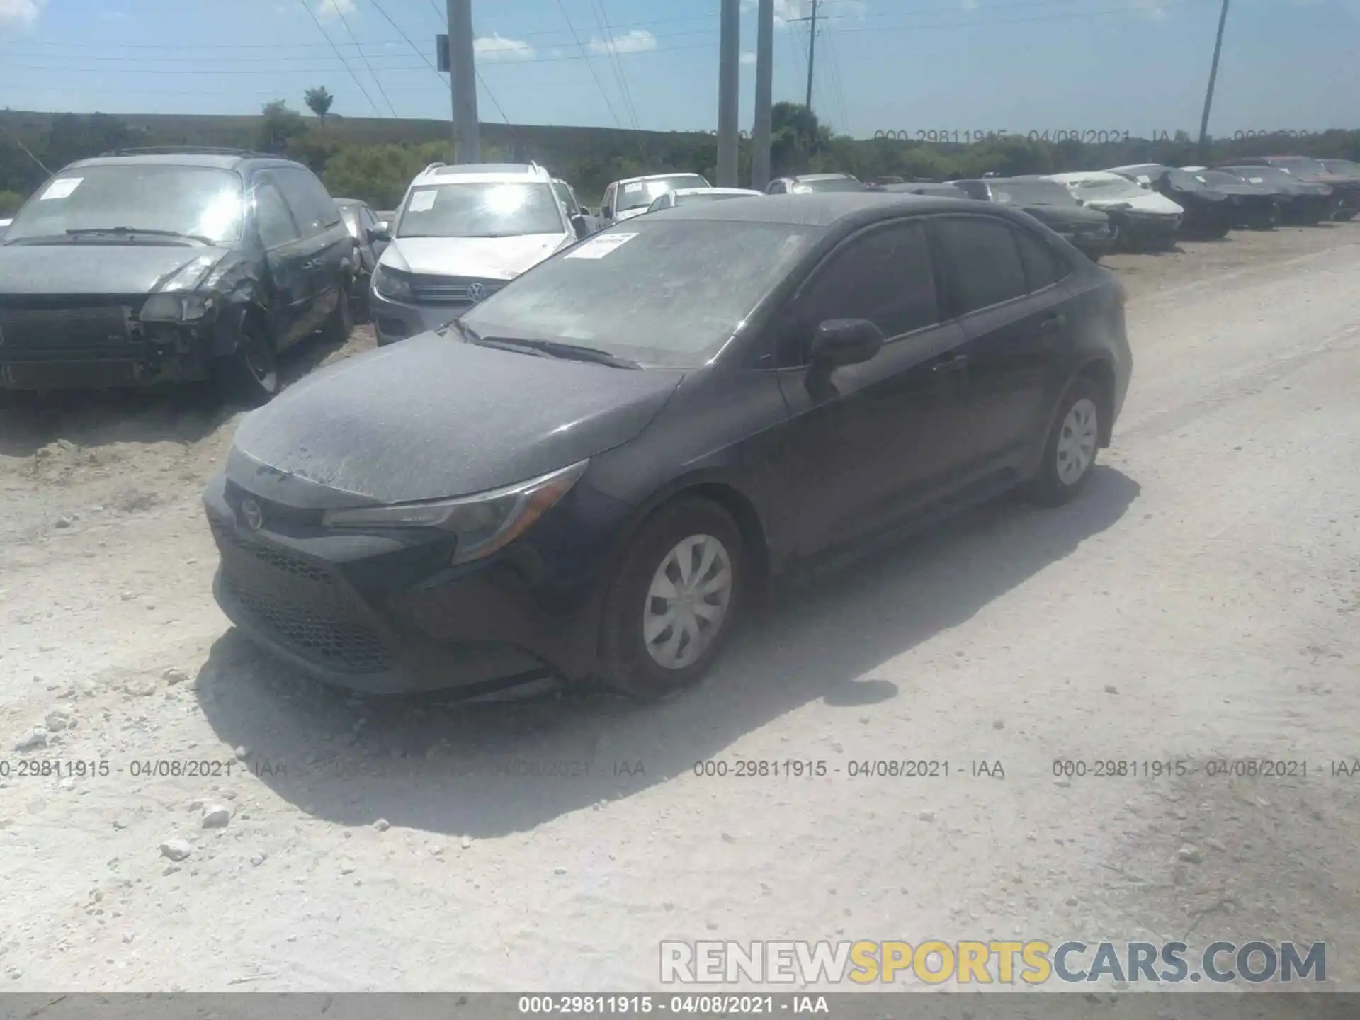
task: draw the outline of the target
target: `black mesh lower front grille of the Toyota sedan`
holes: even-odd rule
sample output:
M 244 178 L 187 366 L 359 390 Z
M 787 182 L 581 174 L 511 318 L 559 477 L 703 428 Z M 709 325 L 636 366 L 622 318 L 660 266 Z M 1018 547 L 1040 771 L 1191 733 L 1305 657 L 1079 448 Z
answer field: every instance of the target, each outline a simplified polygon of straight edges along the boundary
M 343 673 L 392 668 L 386 642 L 324 567 L 211 520 L 222 554 L 222 590 L 233 608 L 279 645 Z

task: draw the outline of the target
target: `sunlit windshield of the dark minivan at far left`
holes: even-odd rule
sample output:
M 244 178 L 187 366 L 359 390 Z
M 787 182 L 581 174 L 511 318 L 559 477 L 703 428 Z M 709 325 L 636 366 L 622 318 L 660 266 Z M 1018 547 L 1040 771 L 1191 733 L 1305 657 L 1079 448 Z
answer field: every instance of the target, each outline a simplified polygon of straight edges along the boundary
M 137 227 L 227 243 L 241 237 L 242 208 L 241 177 L 230 170 L 132 162 L 83 166 L 44 185 L 19 209 L 4 242 Z

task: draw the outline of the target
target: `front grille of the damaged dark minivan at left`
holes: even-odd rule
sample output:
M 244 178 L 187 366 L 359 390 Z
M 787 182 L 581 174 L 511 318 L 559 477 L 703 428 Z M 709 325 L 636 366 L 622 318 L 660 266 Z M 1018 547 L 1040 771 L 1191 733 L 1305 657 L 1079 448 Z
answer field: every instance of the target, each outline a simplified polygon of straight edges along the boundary
M 110 350 L 140 345 L 139 306 L 116 302 L 120 299 L 5 299 L 0 303 L 0 354 L 91 351 L 107 356 Z

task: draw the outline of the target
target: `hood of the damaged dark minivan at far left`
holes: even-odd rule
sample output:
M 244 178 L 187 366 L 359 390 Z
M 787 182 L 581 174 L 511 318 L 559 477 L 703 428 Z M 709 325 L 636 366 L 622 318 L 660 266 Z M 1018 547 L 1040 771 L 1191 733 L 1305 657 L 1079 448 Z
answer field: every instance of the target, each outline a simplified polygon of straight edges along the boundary
M 224 254 L 181 245 L 3 245 L 0 294 L 151 294 L 199 260 L 201 279 Z

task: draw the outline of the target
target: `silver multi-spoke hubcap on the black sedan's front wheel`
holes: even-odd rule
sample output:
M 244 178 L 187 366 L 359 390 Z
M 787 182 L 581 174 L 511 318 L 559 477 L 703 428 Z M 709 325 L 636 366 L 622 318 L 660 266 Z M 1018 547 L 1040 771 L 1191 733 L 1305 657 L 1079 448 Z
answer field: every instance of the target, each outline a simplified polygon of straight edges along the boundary
M 732 559 L 711 534 L 677 543 L 647 589 L 642 641 L 651 661 L 684 669 L 713 645 L 732 601 Z

